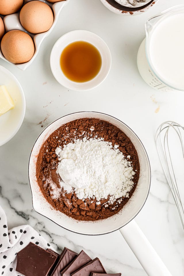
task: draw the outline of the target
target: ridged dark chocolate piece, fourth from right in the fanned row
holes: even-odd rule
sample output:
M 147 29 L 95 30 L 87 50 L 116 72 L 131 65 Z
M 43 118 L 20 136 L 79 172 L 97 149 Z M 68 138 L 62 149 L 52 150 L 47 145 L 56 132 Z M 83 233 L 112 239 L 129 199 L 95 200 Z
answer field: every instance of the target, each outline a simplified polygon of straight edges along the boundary
M 67 267 L 67 265 L 72 262 L 76 256 L 78 256 L 76 252 L 65 247 L 51 276 L 61 276 L 60 271 Z

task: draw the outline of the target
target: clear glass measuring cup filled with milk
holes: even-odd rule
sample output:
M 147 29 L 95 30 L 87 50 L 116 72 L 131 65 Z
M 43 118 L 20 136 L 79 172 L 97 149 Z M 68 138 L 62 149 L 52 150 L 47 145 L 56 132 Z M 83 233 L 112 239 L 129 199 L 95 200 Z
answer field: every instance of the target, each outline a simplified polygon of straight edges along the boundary
M 184 5 L 167 9 L 145 22 L 146 38 L 139 47 L 137 66 L 144 81 L 160 91 L 184 91 L 180 17 L 184 24 Z

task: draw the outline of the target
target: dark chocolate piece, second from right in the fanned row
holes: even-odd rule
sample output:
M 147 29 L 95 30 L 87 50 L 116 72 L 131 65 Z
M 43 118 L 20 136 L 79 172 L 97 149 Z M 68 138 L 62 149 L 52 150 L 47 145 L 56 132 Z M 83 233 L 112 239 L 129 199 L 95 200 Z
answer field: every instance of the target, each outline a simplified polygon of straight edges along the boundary
M 90 276 L 91 272 L 106 273 L 99 258 L 95 258 L 91 262 L 85 264 L 83 267 L 81 267 L 77 271 L 71 273 L 71 275 L 72 276 Z

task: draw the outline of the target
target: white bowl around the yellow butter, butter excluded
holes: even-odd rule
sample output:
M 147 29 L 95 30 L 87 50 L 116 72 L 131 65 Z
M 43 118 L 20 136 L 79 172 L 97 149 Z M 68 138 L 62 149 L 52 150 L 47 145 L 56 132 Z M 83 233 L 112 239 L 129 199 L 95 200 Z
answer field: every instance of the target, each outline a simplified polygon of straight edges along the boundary
M 5 85 L 15 107 L 0 116 L 0 146 L 16 135 L 24 120 L 26 101 L 22 87 L 16 77 L 3 66 L 0 66 L 0 85 Z

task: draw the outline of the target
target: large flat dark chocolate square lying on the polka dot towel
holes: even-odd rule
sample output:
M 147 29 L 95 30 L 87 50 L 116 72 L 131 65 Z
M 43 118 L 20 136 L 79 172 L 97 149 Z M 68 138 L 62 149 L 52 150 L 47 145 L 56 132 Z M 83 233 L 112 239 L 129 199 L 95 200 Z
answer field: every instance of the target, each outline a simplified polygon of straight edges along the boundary
M 25 276 L 47 276 L 56 256 L 30 242 L 17 253 L 16 271 Z

